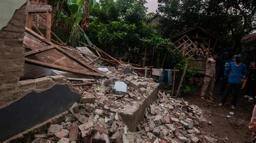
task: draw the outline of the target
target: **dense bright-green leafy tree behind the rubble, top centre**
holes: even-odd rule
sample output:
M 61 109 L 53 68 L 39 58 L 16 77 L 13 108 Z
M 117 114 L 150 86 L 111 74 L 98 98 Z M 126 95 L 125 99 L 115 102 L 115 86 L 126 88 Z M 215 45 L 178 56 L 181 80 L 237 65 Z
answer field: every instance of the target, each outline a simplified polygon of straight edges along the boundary
M 92 7 L 94 19 L 87 28 L 87 35 L 96 46 L 113 56 L 125 56 L 136 62 L 136 55 L 145 48 L 169 42 L 154 32 L 155 26 L 146 25 L 146 10 L 144 2 L 140 1 L 101 0 Z

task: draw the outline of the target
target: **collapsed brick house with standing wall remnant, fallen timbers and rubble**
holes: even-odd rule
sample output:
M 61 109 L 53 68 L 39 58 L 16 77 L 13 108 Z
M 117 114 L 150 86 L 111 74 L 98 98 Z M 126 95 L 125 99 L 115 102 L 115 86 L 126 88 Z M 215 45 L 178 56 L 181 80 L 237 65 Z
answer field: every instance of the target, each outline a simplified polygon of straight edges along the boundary
M 203 110 L 159 91 L 158 83 L 136 71 L 144 67 L 126 65 L 96 46 L 53 41 L 51 31 L 36 33 L 29 13 L 50 15 L 51 6 L 20 4 L 0 31 L 0 141 L 216 141 L 200 131 Z

